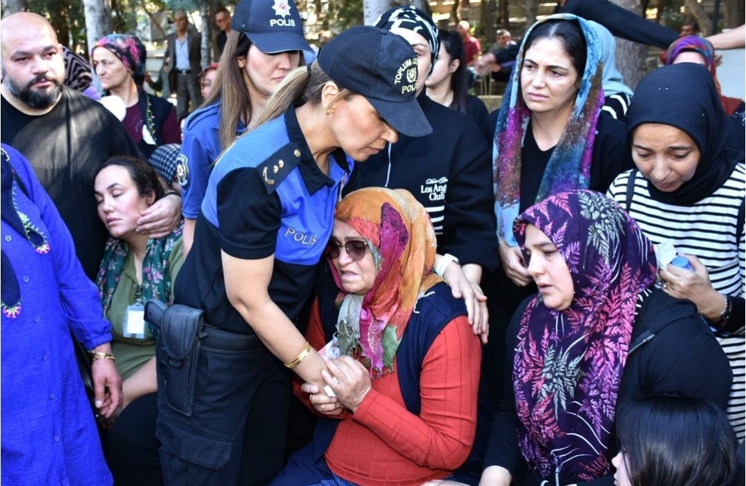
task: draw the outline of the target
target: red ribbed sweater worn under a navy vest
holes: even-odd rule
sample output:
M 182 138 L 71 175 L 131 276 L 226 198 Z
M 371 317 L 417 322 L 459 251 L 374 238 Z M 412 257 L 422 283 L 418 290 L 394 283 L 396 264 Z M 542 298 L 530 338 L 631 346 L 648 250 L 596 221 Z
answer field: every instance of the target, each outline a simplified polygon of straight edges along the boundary
M 307 337 L 316 349 L 325 344 L 317 312 Z M 466 316 L 448 323 L 422 362 L 419 416 L 404 406 L 394 360 L 394 373 L 374 379 L 357 411 L 336 429 L 325 453 L 330 470 L 366 486 L 421 485 L 448 476 L 474 442 L 481 356 Z

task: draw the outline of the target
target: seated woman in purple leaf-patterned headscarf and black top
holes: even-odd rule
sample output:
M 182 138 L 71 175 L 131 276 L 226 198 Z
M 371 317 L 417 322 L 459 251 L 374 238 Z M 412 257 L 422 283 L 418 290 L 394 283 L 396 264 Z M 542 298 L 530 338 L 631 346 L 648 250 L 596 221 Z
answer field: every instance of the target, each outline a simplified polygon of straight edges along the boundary
M 508 329 L 513 396 L 495 418 L 494 484 L 611 484 L 622 399 L 688 393 L 724 407 L 715 337 L 691 302 L 653 290 L 653 246 L 615 202 L 559 193 L 518 216 L 514 234 L 539 293 Z

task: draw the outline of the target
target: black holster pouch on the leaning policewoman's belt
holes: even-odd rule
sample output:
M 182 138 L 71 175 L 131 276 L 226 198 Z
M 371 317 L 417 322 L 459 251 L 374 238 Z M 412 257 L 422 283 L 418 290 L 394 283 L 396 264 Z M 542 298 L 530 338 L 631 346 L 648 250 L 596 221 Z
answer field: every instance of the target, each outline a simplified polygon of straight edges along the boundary
M 169 408 L 186 417 L 192 415 L 195 399 L 200 340 L 207 335 L 203 314 L 188 305 L 167 307 L 157 299 L 145 304 L 145 320 L 158 328 L 158 393 Z

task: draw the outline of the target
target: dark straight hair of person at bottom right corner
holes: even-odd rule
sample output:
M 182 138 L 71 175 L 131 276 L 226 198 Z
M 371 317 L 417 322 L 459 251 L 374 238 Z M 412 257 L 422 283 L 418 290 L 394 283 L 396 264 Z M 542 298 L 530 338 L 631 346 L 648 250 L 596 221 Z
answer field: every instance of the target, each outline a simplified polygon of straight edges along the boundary
M 624 402 L 617 437 L 633 486 L 730 486 L 736 435 L 720 408 L 688 396 Z

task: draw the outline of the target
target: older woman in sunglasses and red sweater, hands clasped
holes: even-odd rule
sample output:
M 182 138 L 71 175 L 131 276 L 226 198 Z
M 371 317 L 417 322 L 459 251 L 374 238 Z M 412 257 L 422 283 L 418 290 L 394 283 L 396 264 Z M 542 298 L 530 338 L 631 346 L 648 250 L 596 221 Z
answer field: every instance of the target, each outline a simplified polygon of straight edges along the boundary
M 327 359 L 327 386 L 294 387 L 322 418 L 272 485 L 450 478 L 474 441 L 481 346 L 463 300 L 432 272 L 427 212 L 406 190 L 350 193 L 326 257 L 306 337 Z

